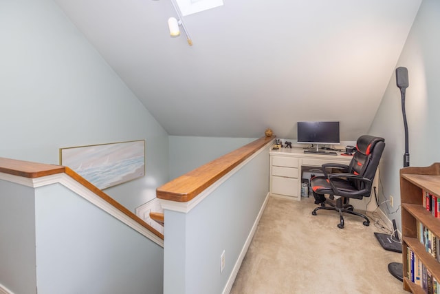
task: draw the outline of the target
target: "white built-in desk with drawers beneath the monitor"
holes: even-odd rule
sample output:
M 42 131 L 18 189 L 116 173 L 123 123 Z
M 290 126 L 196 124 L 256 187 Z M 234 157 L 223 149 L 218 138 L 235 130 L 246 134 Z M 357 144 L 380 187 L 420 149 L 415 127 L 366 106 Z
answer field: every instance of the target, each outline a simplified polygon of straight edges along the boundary
M 270 183 L 272 196 L 287 196 L 301 200 L 303 167 L 321 167 L 324 163 L 349 165 L 352 156 L 305 154 L 303 148 L 270 150 Z

